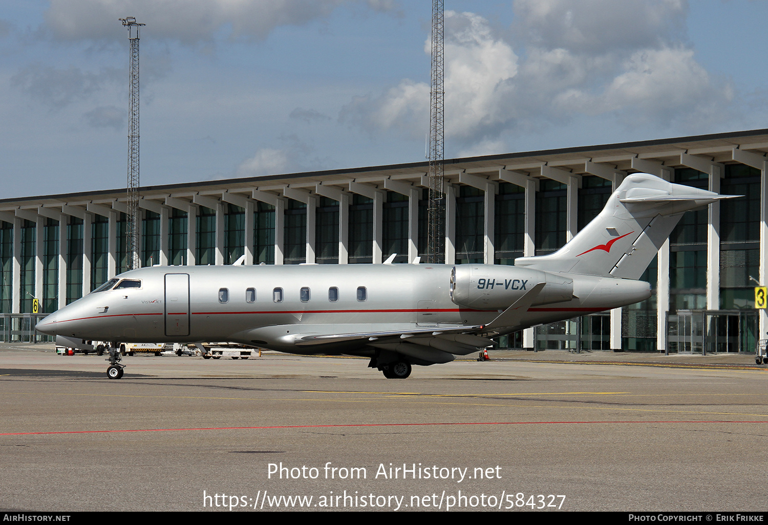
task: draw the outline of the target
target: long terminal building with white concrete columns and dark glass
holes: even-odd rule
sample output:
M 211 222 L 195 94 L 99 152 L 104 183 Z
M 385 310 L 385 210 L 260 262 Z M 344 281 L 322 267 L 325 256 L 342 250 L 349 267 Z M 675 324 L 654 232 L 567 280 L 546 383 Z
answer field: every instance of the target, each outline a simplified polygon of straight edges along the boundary
M 628 173 L 739 199 L 687 212 L 642 279 L 653 296 L 541 325 L 502 347 L 753 352 L 768 318 L 768 130 L 445 161 L 445 263 L 511 265 L 554 252 Z M 142 266 L 380 264 L 425 256 L 426 162 L 142 187 Z M 0 200 L 0 333 L 125 269 L 126 190 Z M 36 300 L 35 300 L 36 299 Z M 38 312 L 34 312 L 35 304 Z

